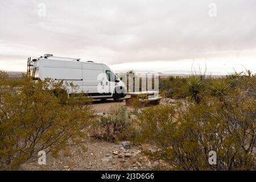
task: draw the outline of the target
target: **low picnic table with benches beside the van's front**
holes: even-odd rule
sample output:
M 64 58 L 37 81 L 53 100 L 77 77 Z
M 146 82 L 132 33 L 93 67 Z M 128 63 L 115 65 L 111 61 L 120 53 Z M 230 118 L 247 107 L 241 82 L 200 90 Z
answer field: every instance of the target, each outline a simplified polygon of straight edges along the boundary
M 125 95 L 130 96 L 125 97 L 125 104 L 127 106 L 131 106 L 137 101 L 139 101 L 139 106 L 158 105 L 162 98 L 159 97 L 158 91 L 128 92 Z

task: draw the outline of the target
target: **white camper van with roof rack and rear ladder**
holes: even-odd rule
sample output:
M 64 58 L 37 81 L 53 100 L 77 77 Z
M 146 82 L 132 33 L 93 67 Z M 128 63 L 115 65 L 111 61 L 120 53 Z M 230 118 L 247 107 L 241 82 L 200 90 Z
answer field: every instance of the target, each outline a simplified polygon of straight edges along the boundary
M 51 78 L 56 82 L 72 82 L 78 86 L 76 93 L 84 92 L 101 100 L 113 98 L 119 102 L 125 97 L 125 84 L 103 63 L 46 54 L 38 59 L 28 59 L 27 74 L 35 81 Z M 69 94 L 73 92 L 71 87 L 67 89 Z

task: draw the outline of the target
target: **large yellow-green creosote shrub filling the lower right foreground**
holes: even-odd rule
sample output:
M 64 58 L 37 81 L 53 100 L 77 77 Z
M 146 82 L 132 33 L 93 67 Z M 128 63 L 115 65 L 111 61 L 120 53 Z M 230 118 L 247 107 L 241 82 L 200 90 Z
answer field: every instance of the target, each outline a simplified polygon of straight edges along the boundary
M 170 169 L 252 169 L 256 157 L 255 78 L 241 77 L 237 83 L 236 89 L 226 93 L 225 102 L 208 96 L 195 105 L 144 109 L 137 136 L 131 141 L 151 159 L 167 162 Z M 209 151 L 216 151 L 216 165 L 208 163 Z

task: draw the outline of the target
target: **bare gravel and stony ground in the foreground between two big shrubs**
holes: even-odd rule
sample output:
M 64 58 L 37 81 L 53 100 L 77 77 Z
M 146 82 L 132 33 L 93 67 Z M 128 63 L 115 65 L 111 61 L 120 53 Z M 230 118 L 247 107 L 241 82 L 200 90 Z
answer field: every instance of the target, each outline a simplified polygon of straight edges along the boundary
M 125 142 L 126 143 L 126 142 Z M 158 162 L 151 162 L 141 152 L 120 143 L 110 143 L 87 138 L 80 146 L 69 146 L 57 158 L 46 156 L 46 165 L 30 159 L 20 170 L 151 170 Z

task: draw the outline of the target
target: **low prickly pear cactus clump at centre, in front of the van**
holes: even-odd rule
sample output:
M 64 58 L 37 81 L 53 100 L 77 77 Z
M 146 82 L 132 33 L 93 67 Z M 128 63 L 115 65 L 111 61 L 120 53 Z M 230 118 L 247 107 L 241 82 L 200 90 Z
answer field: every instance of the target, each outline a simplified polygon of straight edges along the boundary
M 105 114 L 97 122 L 94 122 L 93 138 L 115 142 L 119 135 L 130 126 L 127 107 L 121 106 L 117 114 Z

